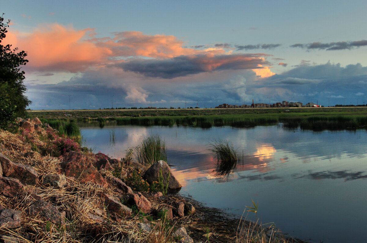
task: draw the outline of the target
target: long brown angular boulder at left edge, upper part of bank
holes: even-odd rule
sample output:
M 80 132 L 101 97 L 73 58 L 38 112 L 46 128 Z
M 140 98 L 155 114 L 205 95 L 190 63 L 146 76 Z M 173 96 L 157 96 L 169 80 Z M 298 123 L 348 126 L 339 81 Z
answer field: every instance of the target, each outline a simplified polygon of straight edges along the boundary
M 0 163 L 4 177 L 18 179 L 22 184 L 34 186 L 38 182 L 38 174 L 32 166 L 11 162 L 0 153 Z

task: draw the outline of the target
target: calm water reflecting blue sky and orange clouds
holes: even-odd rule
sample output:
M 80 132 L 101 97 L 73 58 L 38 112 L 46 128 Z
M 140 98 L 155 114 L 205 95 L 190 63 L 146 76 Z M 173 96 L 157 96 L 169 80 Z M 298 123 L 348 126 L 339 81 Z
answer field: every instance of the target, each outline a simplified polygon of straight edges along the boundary
M 115 141 L 110 132 L 115 130 Z M 159 134 L 180 193 L 242 215 L 251 199 L 262 223 L 313 242 L 367 242 L 367 132 L 284 130 L 280 126 L 208 130 L 192 127 L 82 128 L 88 147 L 121 158 L 142 138 Z M 211 173 L 208 143 L 226 139 L 244 153 L 227 182 Z M 255 220 L 249 213 L 247 218 Z

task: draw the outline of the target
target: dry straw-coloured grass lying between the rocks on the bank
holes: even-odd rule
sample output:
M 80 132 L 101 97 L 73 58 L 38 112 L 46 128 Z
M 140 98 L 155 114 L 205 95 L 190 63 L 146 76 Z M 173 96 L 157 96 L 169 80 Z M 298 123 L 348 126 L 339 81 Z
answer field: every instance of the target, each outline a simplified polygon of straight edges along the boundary
M 32 135 L 33 136 L 33 135 Z M 42 141 L 37 135 L 32 137 L 33 144 L 41 144 Z M 32 166 L 39 175 L 60 174 L 60 160 L 52 156 L 41 156 L 38 152 L 32 151 L 31 145 L 23 142 L 18 134 L 11 134 L 0 130 L 0 152 L 15 163 L 23 163 Z M 95 160 L 94 154 L 87 153 L 91 160 Z M 134 170 L 131 163 L 119 162 L 121 175 L 126 175 Z M 136 166 L 136 165 L 135 165 Z M 115 191 L 112 183 L 113 174 L 111 171 L 100 171 L 102 176 L 109 183 L 107 188 L 92 184 L 81 183 L 77 179 L 69 180 L 68 186 L 58 189 L 42 184 L 42 177 L 36 186 L 24 186 L 26 193 L 19 193 L 14 198 L 0 195 L 0 204 L 4 208 L 11 208 L 22 212 L 21 227 L 16 229 L 0 228 L 0 234 L 12 235 L 19 242 L 177 242 L 172 237 L 172 232 L 183 226 L 195 242 L 290 242 L 271 236 L 264 235 L 264 229 L 258 224 L 235 220 L 233 217 L 224 215 L 215 208 L 204 207 L 199 202 L 191 201 L 197 210 L 196 214 L 183 218 L 175 217 L 173 221 L 159 218 L 158 212 L 164 207 L 175 208 L 178 201 L 183 200 L 177 195 L 170 195 L 163 198 L 153 197 L 151 193 L 143 193 L 152 203 L 151 216 L 153 221 L 151 232 L 143 232 L 139 228 L 142 218 L 148 215 L 137 217 L 135 213 L 130 217 L 123 215 L 111 215 L 104 206 L 102 194 L 123 196 Z M 29 207 L 35 199 L 34 193 L 46 202 L 56 206 L 60 212 L 65 211 L 65 224 L 55 224 L 47 221 L 40 215 L 29 215 Z M 92 220 L 88 213 L 97 215 L 101 212 L 101 217 L 106 221 L 98 223 Z M 206 232 L 206 229 L 210 232 Z

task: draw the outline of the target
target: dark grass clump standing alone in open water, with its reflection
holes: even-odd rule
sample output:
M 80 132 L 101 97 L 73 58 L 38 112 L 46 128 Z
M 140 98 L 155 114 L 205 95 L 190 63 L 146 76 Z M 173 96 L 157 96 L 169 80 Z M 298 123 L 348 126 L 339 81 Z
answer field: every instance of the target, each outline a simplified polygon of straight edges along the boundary
M 215 176 L 228 179 L 228 176 L 236 170 L 237 163 L 243 160 L 243 156 L 239 156 L 233 144 L 229 144 L 226 140 L 215 140 L 209 145 L 211 148 L 208 150 L 213 153 L 215 159 L 213 170 Z

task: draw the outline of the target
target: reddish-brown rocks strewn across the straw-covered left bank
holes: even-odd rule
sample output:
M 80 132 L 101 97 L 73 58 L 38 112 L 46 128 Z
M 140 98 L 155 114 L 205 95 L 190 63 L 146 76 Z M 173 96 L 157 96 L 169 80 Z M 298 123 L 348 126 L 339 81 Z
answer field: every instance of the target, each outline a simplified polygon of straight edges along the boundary
M 29 133 L 44 134 L 45 129 L 52 128 L 48 125 L 42 126 L 40 120 L 35 118 L 30 119 L 18 119 L 19 126 Z M 46 128 L 42 128 L 42 127 Z M 104 178 L 102 175 L 106 173 L 100 173 L 101 171 L 112 170 L 113 166 L 117 164 L 117 160 L 107 158 L 99 158 L 94 161 L 87 155 L 70 151 L 64 153 L 58 157 L 60 171 L 55 174 L 40 175 L 37 171 L 28 164 L 14 163 L 3 153 L 6 152 L 6 147 L 0 143 L 0 193 L 8 198 L 14 198 L 19 195 L 24 195 L 28 199 L 32 200 L 29 203 L 28 210 L 18 211 L 11 209 L 11 205 L 0 204 L 0 228 L 6 227 L 7 229 L 14 229 L 22 227 L 22 219 L 25 217 L 41 217 L 44 220 L 54 222 L 55 224 L 64 224 L 66 212 L 60 211 L 56 207 L 57 203 L 52 202 L 50 198 L 47 200 L 37 195 L 39 194 L 39 188 L 57 188 L 63 189 L 66 186 L 78 181 L 78 183 L 91 183 L 96 186 L 100 186 L 103 191 L 100 194 L 101 202 L 104 203 L 105 208 L 109 212 L 109 217 L 112 220 L 121 220 L 121 217 L 133 217 L 132 209 L 126 206 L 136 205 L 137 210 L 144 214 L 156 214 L 159 211 L 164 211 L 167 220 L 178 220 L 179 218 L 187 217 L 190 214 L 195 214 L 195 208 L 192 204 L 185 202 L 181 199 L 177 203 L 172 203 L 172 200 L 167 200 L 166 196 L 163 196 L 161 192 L 155 193 L 141 193 L 134 191 L 130 186 L 126 185 L 124 181 L 117 177 Z M 94 166 L 96 165 L 96 167 Z M 158 181 L 159 173 L 162 173 L 164 179 L 169 176 L 169 189 L 180 189 L 182 186 L 177 179 L 173 176 L 169 166 L 164 161 L 159 161 L 153 164 L 145 173 L 145 178 L 149 183 Z M 33 189 L 28 189 L 31 186 Z M 27 188 L 28 190 L 25 190 Z M 112 190 L 103 190 L 112 189 Z M 106 192 L 104 192 L 106 191 Z M 113 191 L 113 195 L 111 193 Z M 160 207 L 157 208 L 157 202 Z M 171 202 L 171 203 L 168 203 Z M 165 204 L 167 203 L 167 204 Z M 155 205 L 153 207 L 152 205 Z M 161 205 L 165 205 L 161 207 Z M 95 209 L 92 213 L 87 214 L 88 217 L 95 223 L 106 224 L 106 217 L 103 217 L 103 212 L 99 209 Z M 145 219 L 145 221 L 147 221 Z M 139 227 L 143 232 L 150 232 L 152 230 L 152 224 L 142 222 Z M 187 234 L 185 228 L 181 227 L 174 232 L 179 242 L 193 242 L 190 236 Z M 1 236 L 1 237 L 13 237 L 13 236 Z M 15 237 L 15 236 L 14 236 Z M 16 238 L 16 237 L 15 237 Z

